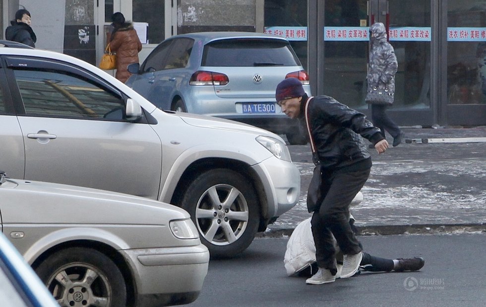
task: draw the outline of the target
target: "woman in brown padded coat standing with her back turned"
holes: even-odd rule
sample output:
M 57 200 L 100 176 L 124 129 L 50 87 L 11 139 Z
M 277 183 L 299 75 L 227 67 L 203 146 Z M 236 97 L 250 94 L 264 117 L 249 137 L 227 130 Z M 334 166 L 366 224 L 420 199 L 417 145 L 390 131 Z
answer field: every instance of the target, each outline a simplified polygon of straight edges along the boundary
M 138 52 L 142 50 L 142 43 L 138 39 L 133 25 L 125 22 L 122 13 L 112 15 L 112 25 L 115 28 L 110 36 L 110 49 L 117 53 L 117 74 L 115 78 L 123 83 L 131 76 L 127 70 L 128 64 L 138 63 Z

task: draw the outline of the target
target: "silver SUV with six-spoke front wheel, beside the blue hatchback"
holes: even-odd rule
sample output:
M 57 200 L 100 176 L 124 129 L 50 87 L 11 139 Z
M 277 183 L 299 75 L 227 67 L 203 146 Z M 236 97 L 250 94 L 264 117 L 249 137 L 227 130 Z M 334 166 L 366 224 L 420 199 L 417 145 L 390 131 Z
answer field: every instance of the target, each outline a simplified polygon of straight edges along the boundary
M 212 257 L 242 252 L 300 194 L 299 170 L 280 136 L 162 111 L 102 70 L 57 52 L 0 41 L 0 123 L 1 167 L 9 176 L 180 206 Z

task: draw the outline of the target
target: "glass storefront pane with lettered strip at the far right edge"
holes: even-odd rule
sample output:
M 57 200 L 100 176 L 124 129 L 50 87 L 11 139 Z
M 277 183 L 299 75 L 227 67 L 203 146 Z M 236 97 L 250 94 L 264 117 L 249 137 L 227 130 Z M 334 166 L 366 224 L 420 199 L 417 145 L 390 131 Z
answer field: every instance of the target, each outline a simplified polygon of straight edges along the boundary
M 486 117 L 486 4 L 447 1 L 447 122 L 484 125 Z

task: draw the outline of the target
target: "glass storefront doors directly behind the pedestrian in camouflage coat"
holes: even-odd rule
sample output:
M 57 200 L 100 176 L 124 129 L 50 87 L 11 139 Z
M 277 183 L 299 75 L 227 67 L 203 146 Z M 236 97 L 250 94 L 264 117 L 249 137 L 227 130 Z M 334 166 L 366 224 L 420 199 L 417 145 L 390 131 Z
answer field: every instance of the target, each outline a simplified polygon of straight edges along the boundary
M 374 22 L 386 26 L 398 60 L 391 117 L 399 125 L 432 123 L 430 0 L 326 0 L 323 94 L 368 112 L 368 30 Z

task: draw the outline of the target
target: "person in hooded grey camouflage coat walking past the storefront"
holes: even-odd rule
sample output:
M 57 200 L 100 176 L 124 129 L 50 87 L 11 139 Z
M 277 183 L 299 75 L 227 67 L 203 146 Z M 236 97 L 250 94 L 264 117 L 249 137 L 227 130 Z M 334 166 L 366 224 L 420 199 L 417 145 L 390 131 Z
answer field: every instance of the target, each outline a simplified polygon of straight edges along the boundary
M 372 88 L 388 90 L 395 93 L 395 74 L 398 69 L 397 57 L 393 46 L 387 42 L 385 26 L 381 22 L 374 23 L 370 28 L 371 47 L 369 50 L 368 74 L 366 76 L 369 93 Z M 383 137 L 385 131 L 393 136 L 393 146 L 398 146 L 404 133 L 385 113 L 386 108 L 393 103 L 378 102 L 366 99 L 371 104 L 371 120 L 373 125 L 381 130 Z M 371 146 L 371 145 L 370 145 Z

